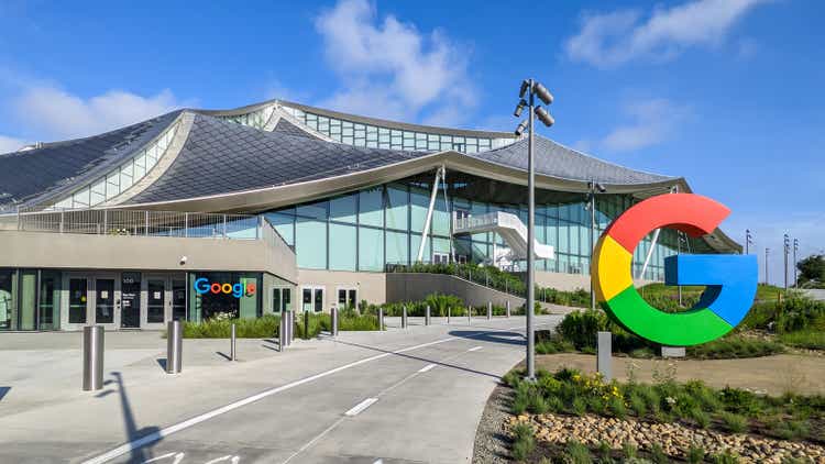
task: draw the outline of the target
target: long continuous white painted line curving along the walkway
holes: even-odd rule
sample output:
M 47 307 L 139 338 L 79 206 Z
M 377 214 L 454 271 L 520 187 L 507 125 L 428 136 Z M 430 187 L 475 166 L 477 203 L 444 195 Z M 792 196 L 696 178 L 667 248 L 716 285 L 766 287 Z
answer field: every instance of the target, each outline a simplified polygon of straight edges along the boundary
M 518 329 L 518 327 L 510 328 L 510 329 L 504 329 L 504 330 L 514 330 L 514 329 Z M 297 386 L 300 386 L 300 385 L 304 385 L 304 384 L 308 384 L 310 382 L 318 380 L 319 378 L 323 378 L 323 377 L 330 376 L 332 374 L 337 374 L 339 372 L 346 371 L 346 369 L 355 367 L 355 366 L 360 366 L 362 364 L 366 364 L 366 363 L 371 363 L 373 361 L 382 360 L 384 357 L 392 356 L 394 354 L 400 354 L 400 353 L 405 353 L 405 352 L 408 352 L 408 351 L 419 350 L 419 349 L 422 349 L 422 347 L 438 345 L 438 344 L 446 343 L 446 342 L 454 342 L 454 341 L 458 341 L 458 340 L 466 340 L 466 339 L 470 339 L 470 338 L 483 336 L 483 335 L 486 335 L 488 333 L 495 333 L 495 332 L 501 332 L 501 331 L 502 331 L 502 329 L 488 330 L 486 332 L 479 332 L 476 334 L 473 334 L 473 335 L 470 335 L 470 336 L 465 336 L 465 338 L 450 336 L 450 338 L 447 338 L 447 339 L 435 340 L 435 341 L 428 342 L 428 343 L 421 343 L 421 344 L 415 345 L 415 346 L 408 346 L 406 349 L 400 349 L 400 350 L 396 350 L 396 351 L 392 351 L 392 352 L 387 352 L 387 353 L 376 354 L 374 356 L 365 357 L 363 360 L 359 360 L 359 361 L 355 361 L 355 362 L 352 362 L 352 363 L 349 363 L 349 364 L 344 364 L 344 365 L 336 367 L 333 369 L 324 371 L 322 373 L 315 374 L 315 375 L 311 375 L 309 377 L 304 377 L 304 378 L 301 378 L 299 380 L 295 380 L 293 383 L 289 383 L 289 384 L 286 384 L 286 385 L 282 385 L 279 387 L 266 389 L 264 391 L 261 391 L 260 394 L 252 395 L 250 397 L 240 399 L 238 401 L 234 401 L 234 402 L 231 402 L 229 405 L 222 406 L 222 407 L 220 407 L 218 409 L 213 409 L 213 410 L 205 412 L 205 413 L 202 413 L 200 416 L 196 416 L 194 418 L 187 419 L 187 420 L 185 420 L 183 422 L 178 422 L 176 424 L 173 424 L 173 426 L 169 426 L 169 427 L 165 427 L 165 428 L 163 428 L 163 429 L 161 429 L 161 430 L 158 430 L 156 432 L 152 432 L 152 433 L 146 434 L 144 437 L 141 437 L 141 438 L 139 438 L 136 440 L 132 440 L 132 441 L 130 441 L 128 443 L 124 443 L 124 444 L 122 444 L 122 445 L 120 445 L 120 446 L 118 446 L 118 448 L 116 448 L 116 449 L 113 449 L 111 451 L 108 451 L 108 452 L 106 452 L 103 454 L 100 454 L 100 455 L 98 455 L 96 457 L 92 457 L 92 459 L 90 459 L 88 461 L 85 461 L 84 464 L 102 464 L 102 463 L 111 461 L 111 460 L 113 460 L 116 457 L 122 456 L 122 455 L 131 452 L 132 450 L 136 450 L 136 449 L 139 449 L 141 446 L 145 446 L 145 445 L 147 445 L 150 443 L 154 443 L 154 442 L 156 442 L 158 440 L 162 440 L 162 439 L 164 439 L 166 437 L 169 437 L 173 433 L 176 433 L 176 432 L 179 432 L 182 430 L 188 429 L 188 428 L 190 428 L 193 426 L 197 426 L 200 422 L 205 422 L 205 421 L 207 421 L 209 419 L 212 419 L 212 418 L 216 418 L 218 416 L 226 415 L 227 412 L 230 412 L 230 411 L 233 411 L 233 410 L 235 410 L 238 408 L 244 407 L 244 406 L 246 406 L 246 405 L 249 405 L 251 402 L 258 401 L 258 400 L 261 400 L 263 398 L 266 398 L 268 396 L 272 396 L 272 395 L 275 395 L 275 394 L 279 394 L 282 391 L 286 391 L 286 390 L 295 388 Z

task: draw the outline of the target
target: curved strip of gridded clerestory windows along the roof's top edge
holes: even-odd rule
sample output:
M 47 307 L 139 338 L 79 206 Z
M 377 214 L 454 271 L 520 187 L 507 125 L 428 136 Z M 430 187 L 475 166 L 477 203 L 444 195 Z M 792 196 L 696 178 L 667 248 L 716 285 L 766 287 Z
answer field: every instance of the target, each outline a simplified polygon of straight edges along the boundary
M 319 132 L 336 142 L 355 146 L 417 152 L 453 150 L 462 153 L 477 153 L 509 145 L 516 141 L 516 139 L 513 137 L 491 139 L 406 131 L 402 129 L 384 128 L 330 118 L 299 110 L 297 108 L 282 108 L 305 126 Z

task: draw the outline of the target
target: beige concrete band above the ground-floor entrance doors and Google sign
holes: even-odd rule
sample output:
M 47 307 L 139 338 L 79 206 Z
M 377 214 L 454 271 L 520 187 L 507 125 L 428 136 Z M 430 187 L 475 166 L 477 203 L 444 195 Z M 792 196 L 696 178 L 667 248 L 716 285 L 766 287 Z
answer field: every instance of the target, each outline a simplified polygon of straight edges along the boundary
M 182 256 L 186 263 L 182 264 Z M 295 254 L 263 240 L 0 231 L 0 267 L 268 272 L 297 281 Z

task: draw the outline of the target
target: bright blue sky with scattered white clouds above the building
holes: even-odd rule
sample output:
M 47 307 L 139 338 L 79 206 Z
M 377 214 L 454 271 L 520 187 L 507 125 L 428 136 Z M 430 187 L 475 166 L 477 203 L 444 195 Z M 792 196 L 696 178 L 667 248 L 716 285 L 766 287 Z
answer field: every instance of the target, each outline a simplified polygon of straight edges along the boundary
M 175 108 L 271 98 L 510 131 L 521 79 L 541 134 L 683 176 L 722 228 L 825 248 L 825 2 L 816 0 L 0 2 L 0 153 Z M 790 274 L 790 273 L 789 273 Z

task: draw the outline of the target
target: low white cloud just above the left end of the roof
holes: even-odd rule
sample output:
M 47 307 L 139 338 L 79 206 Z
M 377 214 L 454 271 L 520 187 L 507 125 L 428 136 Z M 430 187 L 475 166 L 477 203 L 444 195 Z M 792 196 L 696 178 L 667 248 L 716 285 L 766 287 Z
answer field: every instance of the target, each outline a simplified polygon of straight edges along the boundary
M 84 99 L 57 87 L 36 86 L 23 89 L 13 111 L 40 139 L 70 139 L 133 124 L 180 106 L 169 90 L 150 97 L 110 90 Z

